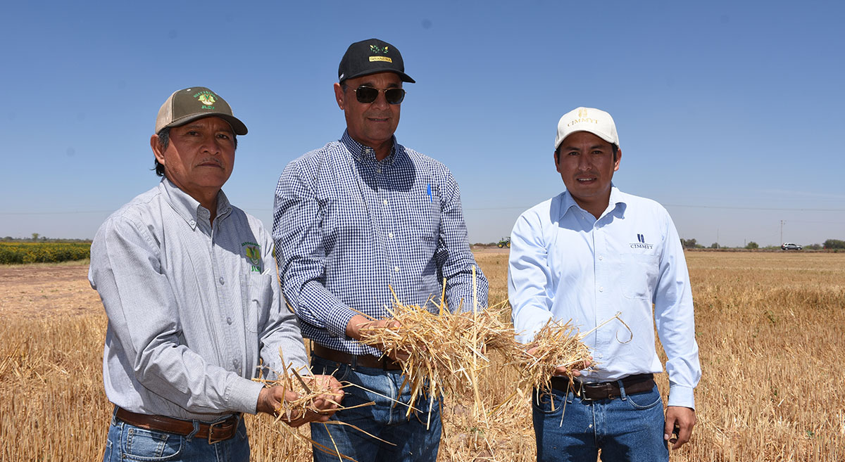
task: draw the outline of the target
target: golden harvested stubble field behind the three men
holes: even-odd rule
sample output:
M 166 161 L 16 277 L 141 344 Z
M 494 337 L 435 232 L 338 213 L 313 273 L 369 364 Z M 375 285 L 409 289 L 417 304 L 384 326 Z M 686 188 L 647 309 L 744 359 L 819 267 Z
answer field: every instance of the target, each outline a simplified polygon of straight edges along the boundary
M 482 250 L 490 300 L 506 298 L 507 253 Z M 699 424 L 677 461 L 845 460 L 845 254 L 688 252 L 704 377 Z M 0 460 L 100 459 L 111 406 L 101 384 L 106 319 L 86 265 L 0 266 Z M 501 358 L 494 358 L 494 361 Z M 485 409 L 516 380 L 485 372 Z M 664 394 L 665 374 L 658 379 Z M 472 397 L 444 401 L 439 460 L 534 459 L 527 398 L 489 422 Z M 308 448 L 248 416 L 254 460 Z

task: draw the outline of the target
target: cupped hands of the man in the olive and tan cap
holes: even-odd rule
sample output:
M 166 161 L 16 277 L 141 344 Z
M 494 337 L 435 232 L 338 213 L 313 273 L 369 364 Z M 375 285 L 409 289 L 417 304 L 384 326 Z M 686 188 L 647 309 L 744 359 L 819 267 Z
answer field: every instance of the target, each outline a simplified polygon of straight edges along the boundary
M 308 377 L 306 377 L 308 379 Z M 343 400 L 343 390 L 341 390 L 341 383 L 330 375 L 315 375 L 313 381 L 318 382 L 319 388 L 325 388 L 327 385 L 330 389 L 331 395 L 319 395 L 312 401 L 314 409 L 309 409 L 303 415 L 301 411 L 293 412 L 288 418 L 283 415 L 281 420 L 291 427 L 300 427 L 308 422 L 327 422 L 329 417 L 337 411 L 337 404 Z M 258 412 L 270 414 L 270 416 L 278 416 L 281 410 L 282 402 L 292 402 L 299 399 L 299 395 L 292 390 L 285 391 L 281 386 L 274 386 L 261 389 L 259 393 L 259 400 L 255 408 Z

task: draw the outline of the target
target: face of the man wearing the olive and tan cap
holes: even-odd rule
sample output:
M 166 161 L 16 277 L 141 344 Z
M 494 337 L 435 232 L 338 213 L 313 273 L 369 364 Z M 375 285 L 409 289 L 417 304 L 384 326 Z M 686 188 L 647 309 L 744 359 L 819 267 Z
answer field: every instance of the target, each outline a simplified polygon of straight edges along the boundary
M 219 191 L 232 175 L 235 133 L 219 117 L 204 117 L 172 127 L 170 143 L 164 151 L 157 138 L 154 135 L 150 144 L 155 158 L 165 167 L 165 175 L 195 199 L 203 196 L 195 193 Z

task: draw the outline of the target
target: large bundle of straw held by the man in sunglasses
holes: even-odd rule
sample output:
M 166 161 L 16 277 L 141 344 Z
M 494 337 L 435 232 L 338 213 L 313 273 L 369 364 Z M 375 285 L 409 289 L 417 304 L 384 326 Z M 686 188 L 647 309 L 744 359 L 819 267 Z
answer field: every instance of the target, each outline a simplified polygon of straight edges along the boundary
M 439 394 L 472 392 L 477 406 L 482 406 L 477 377 L 490 365 L 485 346 L 515 348 L 513 327 L 499 320 L 504 309 L 452 313 L 441 304 L 439 313 L 431 313 L 417 305 L 401 304 L 394 293 L 393 306 L 387 311 L 399 326 L 365 327 L 360 341 L 379 348 L 384 356 L 408 355 L 399 361 L 402 387 L 407 384 L 411 390 L 406 416 L 415 410 L 413 406 L 424 392 L 429 395 L 429 410 Z

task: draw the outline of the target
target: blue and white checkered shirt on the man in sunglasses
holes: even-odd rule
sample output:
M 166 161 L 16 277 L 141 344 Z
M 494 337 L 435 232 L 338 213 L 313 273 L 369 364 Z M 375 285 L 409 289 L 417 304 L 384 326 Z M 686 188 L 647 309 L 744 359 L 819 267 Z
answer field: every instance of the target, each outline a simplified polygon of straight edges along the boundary
M 393 299 L 472 310 L 475 257 L 461 192 L 444 164 L 395 142 L 380 162 L 347 132 L 287 164 L 275 189 L 273 239 L 287 302 L 303 336 L 352 354 L 380 355 L 346 336 L 361 312 L 380 319 Z M 477 302 L 488 282 L 477 270 Z

